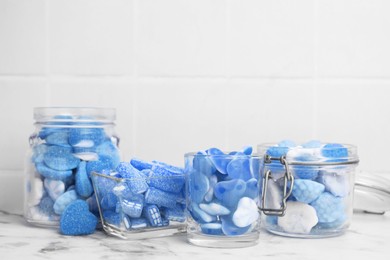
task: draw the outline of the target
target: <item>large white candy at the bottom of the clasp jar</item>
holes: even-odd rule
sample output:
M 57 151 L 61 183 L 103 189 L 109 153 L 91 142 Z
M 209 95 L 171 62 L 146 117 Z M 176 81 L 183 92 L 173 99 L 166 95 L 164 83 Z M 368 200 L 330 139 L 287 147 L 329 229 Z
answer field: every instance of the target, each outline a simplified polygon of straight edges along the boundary
M 299 201 L 288 201 L 286 214 L 278 218 L 278 225 L 288 233 L 308 234 L 317 223 L 316 210 Z

